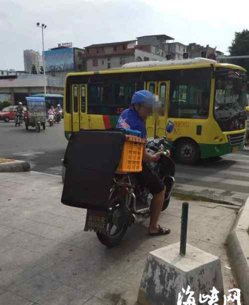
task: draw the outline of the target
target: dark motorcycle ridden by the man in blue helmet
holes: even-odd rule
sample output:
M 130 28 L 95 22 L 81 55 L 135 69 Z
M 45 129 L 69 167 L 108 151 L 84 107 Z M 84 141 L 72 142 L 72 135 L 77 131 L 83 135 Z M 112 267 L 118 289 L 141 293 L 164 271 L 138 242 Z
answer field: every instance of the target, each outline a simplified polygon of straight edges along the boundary
M 172 122 L 169 124 L 173 131 Z M 166 185 L 162 210 L 165 210 L 169 205 L 170 195 L 175 183 L 175 163 L 169 156 L 170 152 L 165 152 L 167 145 L 168 142 L 165 137 L 162 139 L 149 138 L 146 145 L 147 151 L 152 154 L 163 152 L 159 162 L 151 163 L 153 170 Z M 105 222 L 104 230 L 96 230 L 100 242 L 108 247 L 117 245 L 122 240 L 128 226 L 134 224 L 138 217 L 150 216 L 152 198 L 153 195 L 139 184 L 136 174 L 116 173 L 113 178 L 113 187 L 110 190 L 108 210 L 97 212 L 99 221 Z M 95 230 L 91 225 L 92 217 L 96 216 L 95 214 L 95 211 L 87 210 L 85 230 Z

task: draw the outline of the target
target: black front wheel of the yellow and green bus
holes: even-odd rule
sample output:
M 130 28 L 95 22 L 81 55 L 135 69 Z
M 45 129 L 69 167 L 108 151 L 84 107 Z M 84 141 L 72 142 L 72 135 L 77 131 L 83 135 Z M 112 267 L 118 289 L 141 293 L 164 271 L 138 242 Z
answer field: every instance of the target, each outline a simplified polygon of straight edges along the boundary
M 184 164 L 195 164 L 200 159 L 200 149 L 191 140 L 181 140 L 176 145 L 177 160 Z

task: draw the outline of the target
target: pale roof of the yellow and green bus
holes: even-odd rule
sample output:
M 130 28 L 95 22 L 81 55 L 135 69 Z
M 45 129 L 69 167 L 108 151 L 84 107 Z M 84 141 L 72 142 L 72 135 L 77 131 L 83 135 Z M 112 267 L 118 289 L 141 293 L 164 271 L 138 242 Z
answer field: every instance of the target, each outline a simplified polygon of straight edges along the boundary
M 68 76 L 80 76 L 80 75 L 94 75 L 94 74 L 116 74 L 127 72 L 147 72 L 147 71 L 162 71 L 162 70 L 181 70 L 181 69 L 197 69 L 197 68 L 209 68 L 211 66 L 217 68 L 238 69 L 247 72 L 246 69 L 240 66 L 232 64 L 220 64 L 217 61 L 206 58 L 193 58 L 182 60 L 170 60 L 170 61 L 146 61 L 146 62 L 134 62 L 123 65 L 120 68 L 113 68 L 110 70 L 92 71 L 92 72 L 76 72 L 68 73 Z

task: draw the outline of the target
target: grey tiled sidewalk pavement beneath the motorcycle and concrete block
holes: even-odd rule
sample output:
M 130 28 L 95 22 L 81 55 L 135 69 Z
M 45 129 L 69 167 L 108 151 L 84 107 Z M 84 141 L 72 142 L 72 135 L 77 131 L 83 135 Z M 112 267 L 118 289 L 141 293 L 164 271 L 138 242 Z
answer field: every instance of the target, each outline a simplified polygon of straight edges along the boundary
M 135 305 L 148 252 L 180 240 L 182 201 L 172 198 L 161 215 L 171 234 L 149 237 L 147 219 L 108 249 L 83 231 L 86 210 L 60 203 L 60 181 L 32 171 L 0 174 L 0 304 Z M 227 294 L 237 286 L 226 238 L 238 210 L 189 203 L 188 243 L 221 258 Z

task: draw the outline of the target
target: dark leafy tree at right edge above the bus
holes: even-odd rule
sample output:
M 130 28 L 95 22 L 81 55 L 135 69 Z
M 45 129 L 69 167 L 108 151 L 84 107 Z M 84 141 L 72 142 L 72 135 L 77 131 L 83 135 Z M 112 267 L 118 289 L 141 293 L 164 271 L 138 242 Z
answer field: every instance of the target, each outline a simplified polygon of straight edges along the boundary
M 229 52 L 231 56 L 249 55 L 249 30 L 244 29 L 242 32 L 235 32 L 235 39 L 229 47 Z M 233 64 L 242 66 L 249 72 L 249 59 L 237 59 L 233 61 Z

